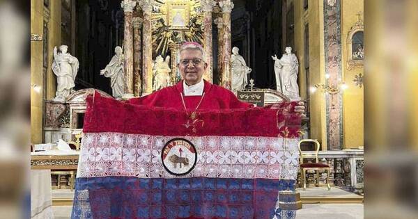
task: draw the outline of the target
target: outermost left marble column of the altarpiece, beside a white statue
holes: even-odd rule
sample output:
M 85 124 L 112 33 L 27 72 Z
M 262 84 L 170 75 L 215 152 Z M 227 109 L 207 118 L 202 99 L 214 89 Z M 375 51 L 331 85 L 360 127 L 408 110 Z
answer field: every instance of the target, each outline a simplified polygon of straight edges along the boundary
M 125 15 L 125 30 L 123 33 L 123 54 L 125 55 L 125 87 L 123 89 L 123 99 L 134 97 L 134 49 L 132 40 L 132 12 L 136 1 L 123 0 L 121 7 Z

